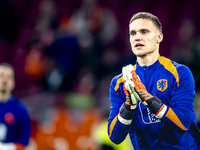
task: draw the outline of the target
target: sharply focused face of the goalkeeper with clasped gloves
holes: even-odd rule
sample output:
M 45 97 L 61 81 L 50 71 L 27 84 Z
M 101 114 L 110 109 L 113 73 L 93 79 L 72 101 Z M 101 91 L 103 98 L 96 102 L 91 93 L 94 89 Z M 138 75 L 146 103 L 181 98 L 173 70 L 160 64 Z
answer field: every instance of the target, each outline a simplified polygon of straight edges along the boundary
M 137 57 L 151 56 L 158 53 L 162 33 L 148 19 L 136 19 L 129 25 L 130 44 Z

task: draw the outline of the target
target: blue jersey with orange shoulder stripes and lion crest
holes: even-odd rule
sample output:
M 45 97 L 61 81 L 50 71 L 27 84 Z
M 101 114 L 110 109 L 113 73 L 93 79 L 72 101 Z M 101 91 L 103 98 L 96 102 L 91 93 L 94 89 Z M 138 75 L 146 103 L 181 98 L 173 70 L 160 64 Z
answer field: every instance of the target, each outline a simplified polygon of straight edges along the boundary
M 148 67 L 139 66 L 136 62 L 134 69 L 147 91 L 161 99 L 167 110 L 159 119 L 138 101 L 132 123 L 122 124 L 117 115 L 126 101 L 124 80 L 122 74 L 115 76 L 110 85 L 110 139 L 118 144 L 130 134 L 135 150 L 200 149 L 200 133 L 194 111 L 195 84 L 189 68 L 159 56 Z

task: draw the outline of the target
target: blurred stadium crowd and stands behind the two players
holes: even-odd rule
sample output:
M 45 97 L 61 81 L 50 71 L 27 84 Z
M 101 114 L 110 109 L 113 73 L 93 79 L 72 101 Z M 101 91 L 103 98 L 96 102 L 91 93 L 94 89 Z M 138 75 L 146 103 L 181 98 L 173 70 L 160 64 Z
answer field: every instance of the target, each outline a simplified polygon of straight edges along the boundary
M 1 0 L 0 62 L 14 66 L 13 94 L 31 115 L 29 149 L 109 149 L 109 139 L 100 140 L 109 115 L 109 84 L 122 66 L 136 61 L 128 25 L 138 11 L 160 18 L 165 39 L 160 54 L 192 71 L 200 122 L 199 4 L 198 0 Z

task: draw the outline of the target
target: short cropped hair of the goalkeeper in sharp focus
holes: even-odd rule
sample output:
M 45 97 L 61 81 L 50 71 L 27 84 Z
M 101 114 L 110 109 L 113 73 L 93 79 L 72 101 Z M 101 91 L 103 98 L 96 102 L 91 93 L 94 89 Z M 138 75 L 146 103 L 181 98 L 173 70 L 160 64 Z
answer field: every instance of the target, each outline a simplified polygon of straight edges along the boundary
M 139 12 L 135 15 L 133 15 L 133 17 L 131 18 L 130 20 L 130 23 L 129 25 L 134 21 L 134 20 L 137 20 L 137 19 L 148 19 L 148 20 L 151 20 L 153 22 L 153 24 L 158 28 L 158 30 L 162 33 L 162 26 L 161 26 L 161 23 L 158 19 L 158 17 L 154 16 L 153 14 L 151 13 L 148 13 L 148 12 Z

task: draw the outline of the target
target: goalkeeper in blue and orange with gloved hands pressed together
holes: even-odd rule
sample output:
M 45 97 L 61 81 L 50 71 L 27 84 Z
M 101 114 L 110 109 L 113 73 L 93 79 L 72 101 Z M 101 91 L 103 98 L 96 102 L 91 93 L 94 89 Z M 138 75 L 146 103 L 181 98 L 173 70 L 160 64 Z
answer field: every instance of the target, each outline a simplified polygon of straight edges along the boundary
M 159 55 L 163 34 L 156 16 L 135 14 L 129 33 L 137 62 L 111 81 L 111 141 L 121 143 L 129 134 L 135 150 L 200 149 L 189 68 Z

